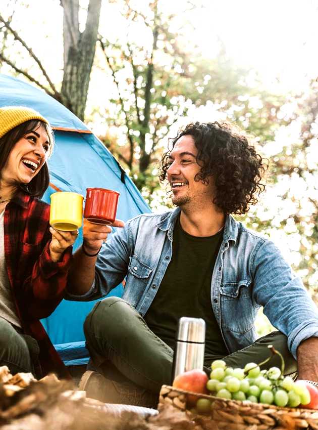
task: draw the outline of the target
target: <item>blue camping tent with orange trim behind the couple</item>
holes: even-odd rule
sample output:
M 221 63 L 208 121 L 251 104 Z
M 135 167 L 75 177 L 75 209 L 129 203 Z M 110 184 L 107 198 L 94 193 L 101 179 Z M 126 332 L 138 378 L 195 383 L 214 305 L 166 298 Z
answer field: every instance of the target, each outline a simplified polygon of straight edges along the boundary
M 11 76 L 0 75 L 0 106 L 28 106 L 48 119 L 55 130 L 56 146 L 48 161 L 50 186 L 43 196 L 49 203 L 56 191 L 86 195 L 88 187 L 103 187 L 120 193 L 117 218 L 128 220 L 149 207 L 110 151 L 87 126 L 66 107 L 38 88 Z M 75 242 L 76 249 L 82 241 Z M 121 295 L 122 286 L 112 294 Z M 66 365 L 88 361 L 84 345 L 83 322 L 93 302 L 63 300 L 42 323 Z

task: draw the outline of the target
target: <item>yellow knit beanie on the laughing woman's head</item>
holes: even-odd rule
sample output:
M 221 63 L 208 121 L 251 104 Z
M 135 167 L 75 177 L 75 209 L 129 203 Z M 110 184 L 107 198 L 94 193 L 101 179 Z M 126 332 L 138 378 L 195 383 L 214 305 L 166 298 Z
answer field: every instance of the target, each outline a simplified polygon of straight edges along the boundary
M 47 119 L 36 110 L 25 106 L 5 106 L 0 108 L 0 138 L 17 125 L 30 119 L 39 119 L 49 125 Z

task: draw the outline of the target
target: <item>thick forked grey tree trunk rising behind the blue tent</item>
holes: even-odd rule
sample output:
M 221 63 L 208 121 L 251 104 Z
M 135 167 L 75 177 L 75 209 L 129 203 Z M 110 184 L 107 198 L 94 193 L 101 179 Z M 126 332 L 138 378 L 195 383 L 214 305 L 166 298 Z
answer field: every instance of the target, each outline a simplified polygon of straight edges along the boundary
M 85 30 L 79 31 L 79 1 L 61 0 L 64 9 L 64 75 L 61 89 L 63 104 L 84 120 L 89 77 L 93 65 L 101 0 L 90 0 Z

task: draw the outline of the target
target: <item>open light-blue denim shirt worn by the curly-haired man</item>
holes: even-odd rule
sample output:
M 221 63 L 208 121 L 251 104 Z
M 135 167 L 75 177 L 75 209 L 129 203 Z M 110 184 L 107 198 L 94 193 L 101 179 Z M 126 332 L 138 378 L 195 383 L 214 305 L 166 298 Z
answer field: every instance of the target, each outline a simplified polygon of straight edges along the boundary
M 70 298 L 104 296 L 126 277 L 123 299 L 144 316 L 170 263 L 179 213 L 180 208 L 142 214 L 117 229 L 98 255 L 91 289 Z M 261 306 L 271 323 L 288 336 L 295 358 L 302 340 L 318 336 L 317 308 L 278 248 L 228 216 L 211 278 L 211 312 L 229 353 L 256 340 L 254 323 Z

